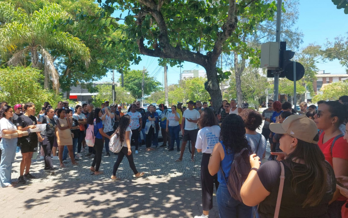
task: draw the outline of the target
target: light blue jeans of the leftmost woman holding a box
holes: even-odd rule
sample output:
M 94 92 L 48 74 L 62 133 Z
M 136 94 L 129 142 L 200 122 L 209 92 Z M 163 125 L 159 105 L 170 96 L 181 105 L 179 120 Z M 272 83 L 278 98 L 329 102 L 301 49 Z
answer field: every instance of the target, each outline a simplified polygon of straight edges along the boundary
M 2 138 L 0 142 L 0 185 L 6 187 L 11 184 L 12 164 L 15 161 L 18 138 Z

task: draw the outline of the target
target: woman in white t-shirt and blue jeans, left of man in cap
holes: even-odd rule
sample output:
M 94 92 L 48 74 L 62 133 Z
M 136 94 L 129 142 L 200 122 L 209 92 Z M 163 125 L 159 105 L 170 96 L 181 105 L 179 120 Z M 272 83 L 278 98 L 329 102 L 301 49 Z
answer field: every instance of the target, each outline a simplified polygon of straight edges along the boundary
M 179 132 L 180 132 L 180 114 L 176 112 L 176 106 L 172 106 L 172 113 L 168 113 L 167 116 L 167 128 L 166 131 L 171 136 L 171 147 L 168 148 L 168 151 L 174 150 L 174 142 L 176 141 L 176 150 L 180 151 L 180 138 L 179 138 Z

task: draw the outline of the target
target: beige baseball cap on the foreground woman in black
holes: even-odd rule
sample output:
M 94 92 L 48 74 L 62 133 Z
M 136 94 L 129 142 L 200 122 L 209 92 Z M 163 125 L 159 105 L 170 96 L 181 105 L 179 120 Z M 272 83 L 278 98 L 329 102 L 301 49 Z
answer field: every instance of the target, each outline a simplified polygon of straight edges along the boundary
M 318 144 L 318 141 L 314 141 L 318 134 L 317 125 L 307 116 L 297 114 L 288 116 L 283 123 L 271 123 L 269 129 L 273 133 L 288 134 L 299 140 Z

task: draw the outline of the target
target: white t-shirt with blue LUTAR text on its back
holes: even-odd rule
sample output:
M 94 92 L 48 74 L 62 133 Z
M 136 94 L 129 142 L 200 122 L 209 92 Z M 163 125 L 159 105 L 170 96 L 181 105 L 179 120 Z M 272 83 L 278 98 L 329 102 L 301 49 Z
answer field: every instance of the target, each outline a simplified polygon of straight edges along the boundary
M 202 149 L 202 153 L 212 153 L 216 143 L 220 138 L 220 126 L 206 126 L 200 129 L 197 134 L 195 147 Z

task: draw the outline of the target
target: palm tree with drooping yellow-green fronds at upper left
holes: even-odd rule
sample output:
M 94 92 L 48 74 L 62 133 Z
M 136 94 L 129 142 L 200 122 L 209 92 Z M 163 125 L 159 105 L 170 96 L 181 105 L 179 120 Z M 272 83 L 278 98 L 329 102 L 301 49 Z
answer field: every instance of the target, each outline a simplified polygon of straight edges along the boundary
M 11 3 L 0 2 L 0 55 L 12 57 L 8 65 L 25 66 L 26 55 L 30 54 L 31 66 L 44 69 L 45 89 L 52 88 L 58 92 L 60 88 L 59 74 L 54 66 L 57 57 L 50 54 L 56 49 L 62 52 L 77 54 L 88 67 L 89 48 L 77 37 L 68 32 L 53 28 L 57 21 L 69 18 L 63 8 L 50 3 L 39 11 L 29 13 L 28 10 L 15 8 Z

